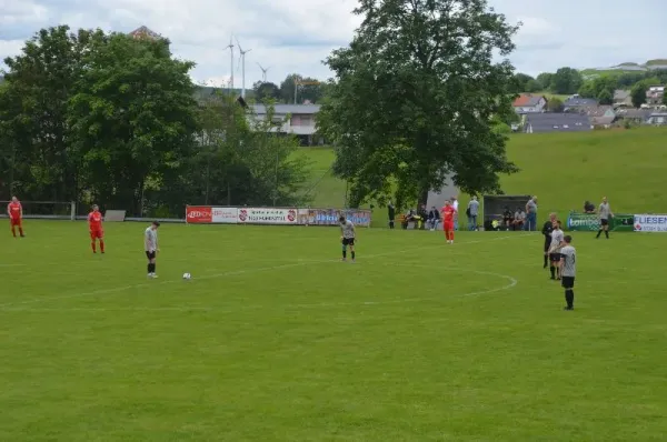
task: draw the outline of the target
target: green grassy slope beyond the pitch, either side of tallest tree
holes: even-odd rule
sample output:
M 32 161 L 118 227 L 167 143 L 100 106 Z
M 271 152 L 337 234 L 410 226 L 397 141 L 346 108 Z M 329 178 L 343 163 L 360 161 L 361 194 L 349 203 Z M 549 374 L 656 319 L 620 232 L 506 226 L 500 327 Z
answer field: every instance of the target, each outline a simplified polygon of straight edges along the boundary
M 580 210 L 585 200 L 609 198 L 618 213 L 667 212 L 667 129 L 516 134 L 507 153 L 521 171 L 502 177 L 507 194 L 537 194 L 540 213 Z M 313 205 L 340 207 L 346 185 L 329 170 L 330 149 L 310 149 L 316 163 Z M 461 201 L 467 201 L 461 195 Z M 384 211 L 382 211 L 384 213 Z M 384 224 L 379 222 L 378 225 Z

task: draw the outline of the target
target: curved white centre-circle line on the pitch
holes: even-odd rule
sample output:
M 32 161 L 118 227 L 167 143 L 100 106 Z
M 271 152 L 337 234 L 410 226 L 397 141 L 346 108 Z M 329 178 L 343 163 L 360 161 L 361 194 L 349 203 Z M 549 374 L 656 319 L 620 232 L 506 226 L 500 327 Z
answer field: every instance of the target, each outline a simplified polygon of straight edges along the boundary
M 339 262 L 339 261 L 322 261 L 322 262 Z M 420 298 L 402 298 L 402 299 L 395 299 L 395 300 L 384 300 L 384 301 L 356 301 L 356 302 L 318 302 L 318 303 L 311 303 L 311 304 L 281 304 L 281 305 L 262 305 L 262 304 L 257 304 L 257 305 L 247 305 L 247 307 L 239 307 L 236 309 L 228 309 L 228 308 L 212 308 L 212 307 L 197 307 L 197 305 L 192 305 L 192 307 L 155 307 L 155 308 L 147 308 L 147 307 L 139 307 L 139 308 L 14 308 L 14 309 L 2 309 L 2 311 L 11 311 L 11 312 L 20 312 L 20 311 L 30 311 L 30 312 L 74 312 L 74 311 L 81 311 L 81 312 L 110 312 L 110 311 L 137 311 L 137 312 L 159 312 L 159 311 L 175 311 L 175 312 L 193 312 L 193 311 L 201 311 L 201 312 L 218 312 L 218 313 L 238 313 L 240 311 L 248 311 L 248 310 L 276 310 L 276 309 L 281 309 L 281 310 L 293 310 L 293 309 L 328 309 L 328 308 L 337 308 L 337 307 L 365 307 L 365 305 L 388 305 L 388 304 L 402 304 L 402 303 L 410 303 L 410 302 L 427 302 L 427 301 L 436 301 L 436 300 L 449 300 L 449 299 L 454 299 L 454 298 L 460 298 L 460 297 L 474 297 L 474 295 L 480 295 L 480 294 L 489 294 L 489 293 L 495 293 L 495 292 L 500 292 L 500 291 L 505 291 L 505 290 L 510 290 L 514 289 L 519 281 L 510 275 L 507 274 L 501 274 L 501 273 L 492 273 L 492 272 L 484 272 L 484 271 L 478 271 L 478 270 L 470 270 L 470 269 L 462 269 L 462 268 L 439 268 L 439 267 L 435 267 L 435 265 L 420 265 L 420 264 L 396 264 L 398 267 L 408 267 L 408 268 L 422 268 L 422 269 L 434 269 L 434 270 L 439 270 L 439 271 L 447 271 L 447 272 L 467 272 L 467 273 L 477 273 L 477 274 L 486 274 L 486 275 L 492 275 L 492 277 L 497 277 L 500 279 L 506 279 L 507 281 L 509 281 L 509 283 L 501 285 L 501 287 L 496 287 L 492 289 L 486 289 L 486 290 L 478 290 L 478 291 L 474 291 L 474 292 L 468 292 L 468 293 L 457 293 L 454 295 L 445 295 L 445 297 L 420 297 Z

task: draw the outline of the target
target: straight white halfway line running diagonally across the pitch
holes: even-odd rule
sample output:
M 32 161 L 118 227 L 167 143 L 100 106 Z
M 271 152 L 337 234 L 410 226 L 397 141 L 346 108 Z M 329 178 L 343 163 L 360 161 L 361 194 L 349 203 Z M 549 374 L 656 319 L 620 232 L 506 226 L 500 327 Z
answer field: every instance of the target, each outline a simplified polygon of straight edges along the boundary
M 500 240 L 506 240 L 506 239 L 516 239 L 516 238 L 526 238 L 526 237 L 532 237 L 532 235 L 529 233 L 528 234 L 519 233 L 519 234 L 512 234 L 512 235 L 506 235 L 506 237 L 498 237 L 498 238 L 494 238 L 491 240 L 465 241 L 465 242 L 459 242 L 456 245 L 477 244 L 477 243 L 482 243 L 482 242 L 486 243 L 486 242 L 491 242 L 491 241 L 500 241 Z M 445 243 L 439 243 L 439 244 L 435 244 L 435 245 L 425 245 L 425 247 L 419 247 L 419 248 L 405 249 L 401 252 L 422 251 L 422 250 L 429 250 L 429 249 L 435 249 L 435 248 L 442 249 L 442 248 L 456 247 L 456 245 L 447 245 Z M 392 250 L 390 252 L 369 254 L 369 255 L 364 257 L 362 259 L 367 260 L 367 259 L 374 259 L 374 258 L 380 258 L 380 257 L 388 257 L 388 255 L 392 255 L 396 253 L 397 252 L 395 250 Z M 279 269 L 289 269 L 289 268 L 311 265 L 311 264 L 331 263 L 331 262 L 340 262 L 340 260 L 339 259 L 308 260 L 308 261 L 300 261 L 297 263 L 287 263 L 287 264 L 280 264 L 280 265 L 269 265 L 269 267 L 261 267 L 261 268 L 232 270 L 232 271 L 222 272 L 222 273 L 215 273 L 215 274 L 198 277 L 195 279 L 195 281 L 225 278 L 225 277 L 233 277 L 233 275 L 239 275 L 239 274 L 256 273 L 256 272 L 271 271 L 271 270 L 279 270 Z M 117 287 L 117 288 L 111 288 L 111 289 L 100 289 L 100 290 L 93 290 L 93 291 L 89 291 L 89 292 L 70 293 L 70 294 L 48 297 L 48 298 L 34 298 L 34 299 L 30 299 L 30 300 L 20 301 L 20 302 L 2 303 L 2 304 L 0 304 L 0 310 L 6 311 L 7 308 L 12 307 L 12 305 L 26 305 L 26 304 L 33 304 L 33 303 L 40 303 L 40 302 L 57 301 L 57 300 L 62 300 L 62 299 L 84 298 L 84 297 L 93 297 L 93 295 L 98 295 L 98 294 L 118 293 L 118 292 L 122 292 L 126 290 L 141 289 L 141 288 L 146 288 L 146 287 L 155 287 L 155 285 L 163 285 L 163 284 L 179 282 L 179 281 L 182 283 L 181 279 L 162 280 L 162 281 L 153 280 L 151 282 L 122 285 L 122 287 Z

